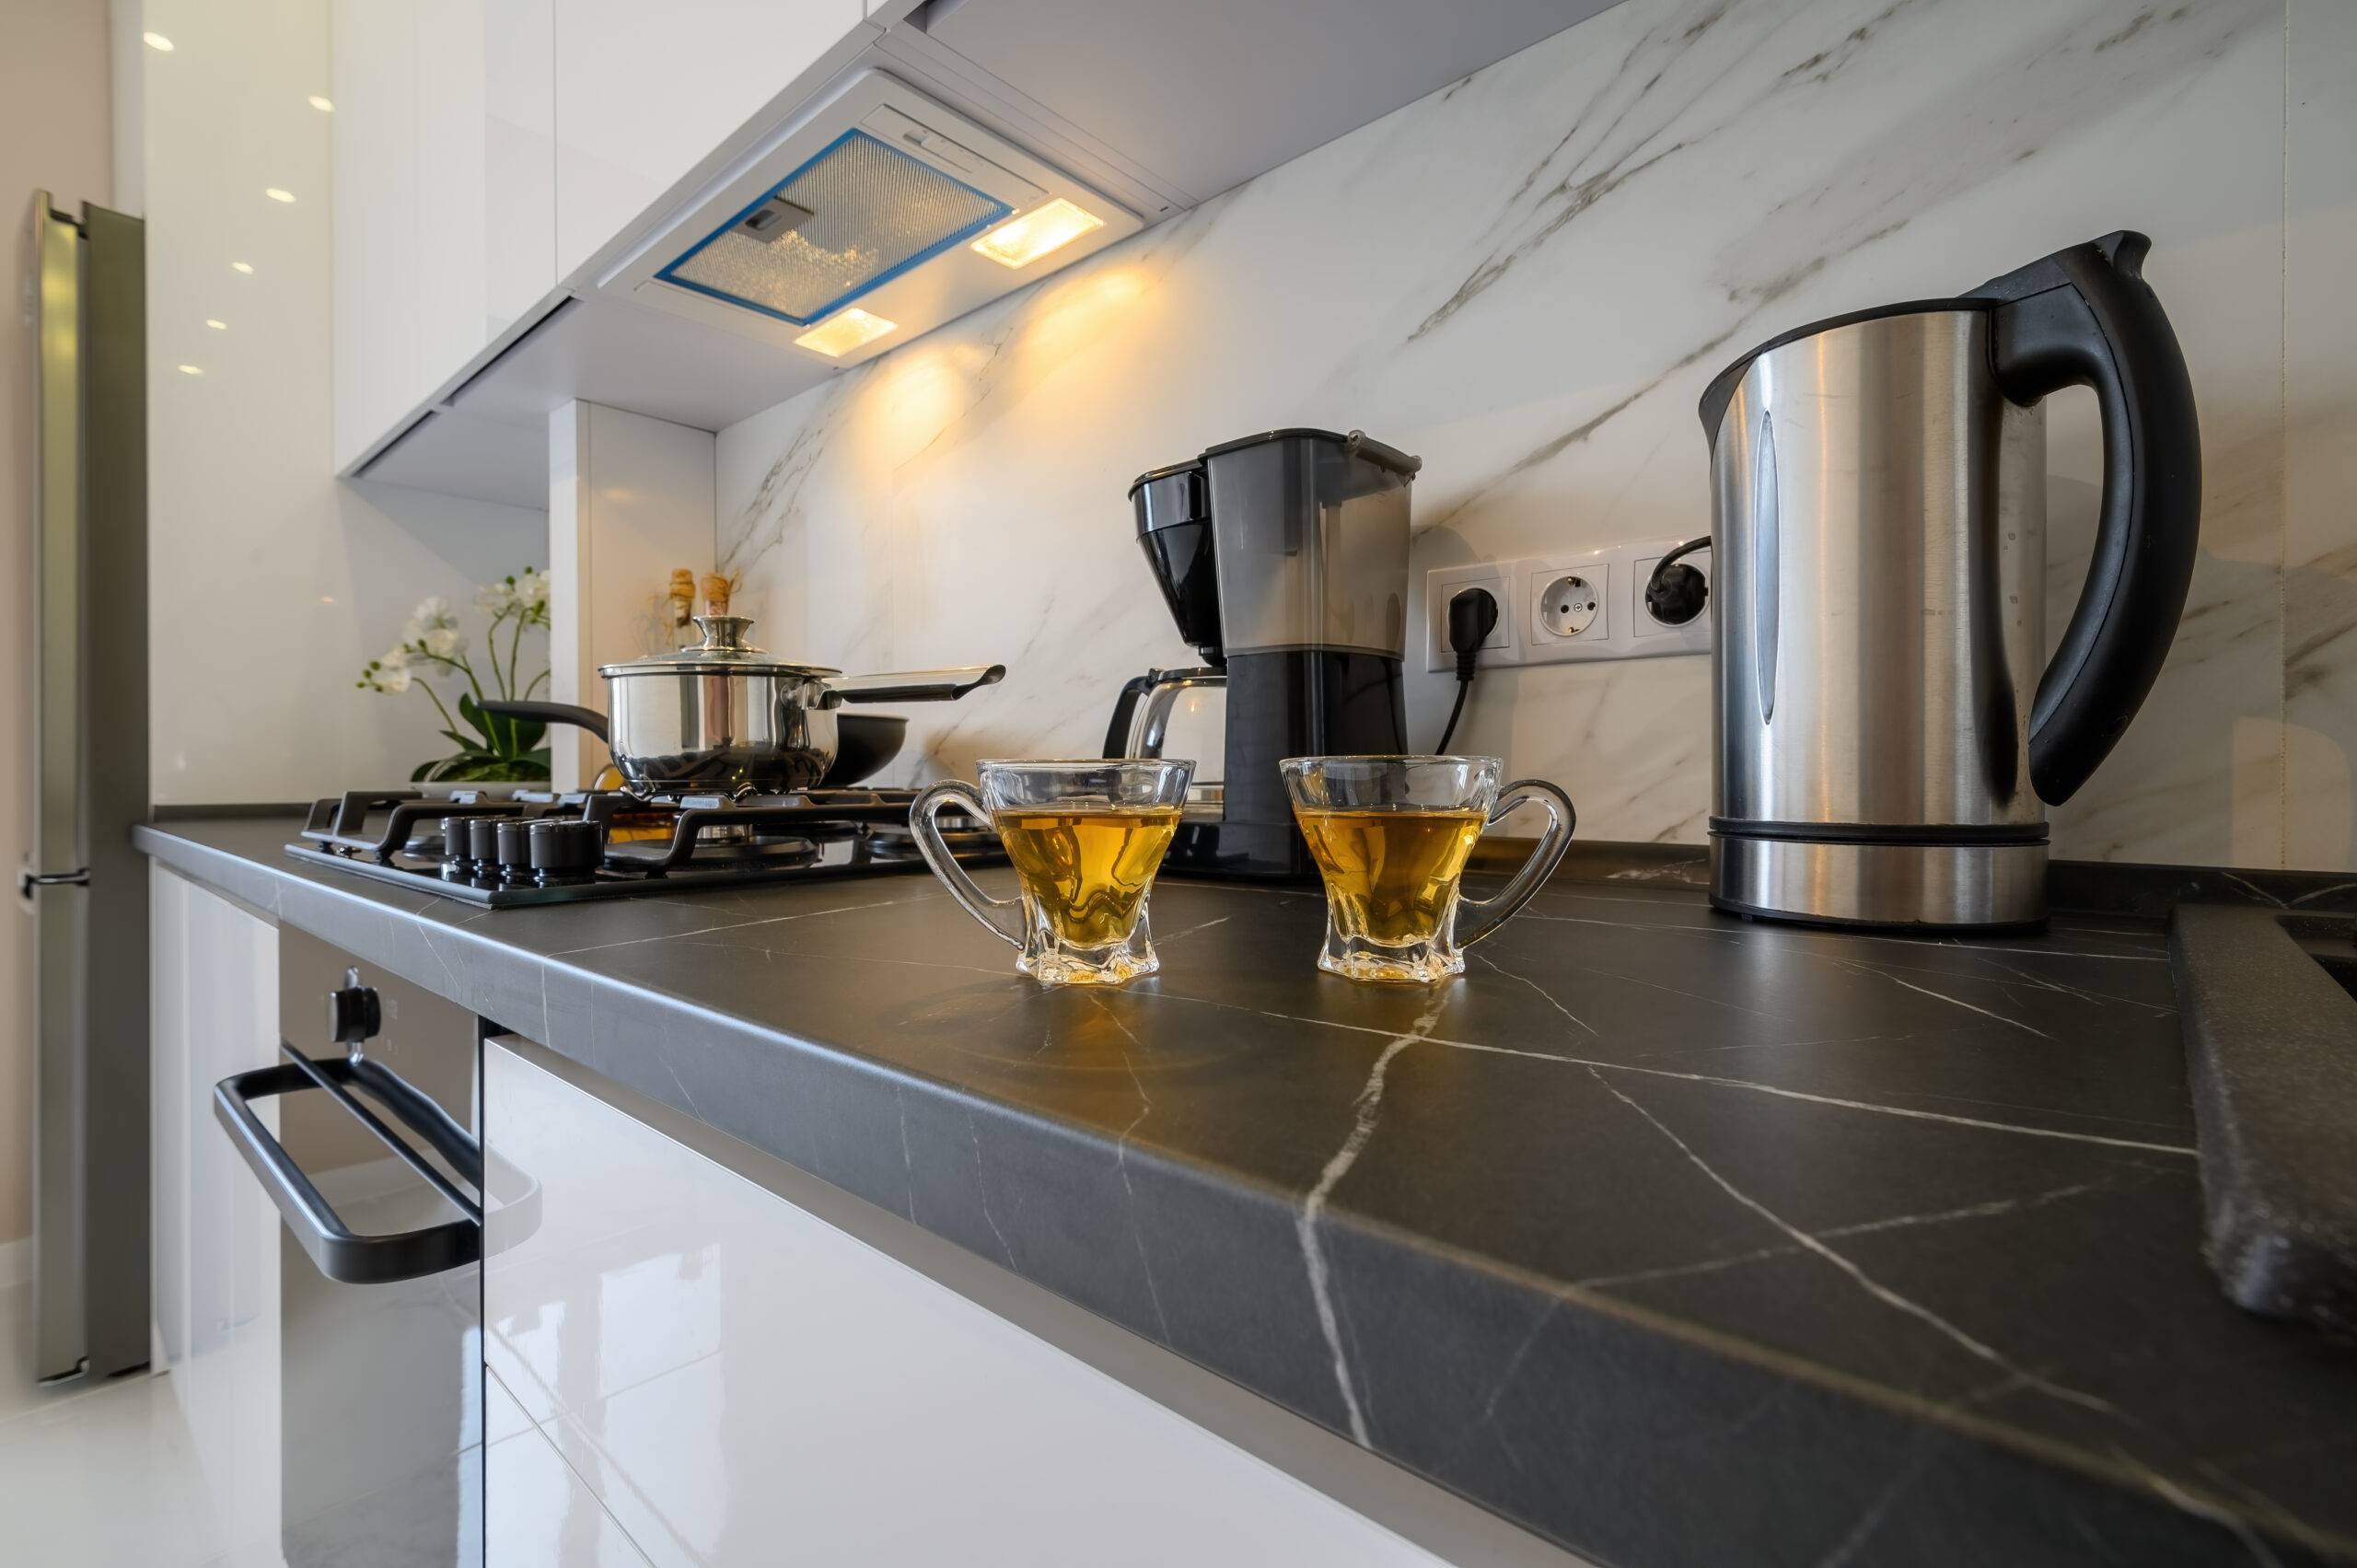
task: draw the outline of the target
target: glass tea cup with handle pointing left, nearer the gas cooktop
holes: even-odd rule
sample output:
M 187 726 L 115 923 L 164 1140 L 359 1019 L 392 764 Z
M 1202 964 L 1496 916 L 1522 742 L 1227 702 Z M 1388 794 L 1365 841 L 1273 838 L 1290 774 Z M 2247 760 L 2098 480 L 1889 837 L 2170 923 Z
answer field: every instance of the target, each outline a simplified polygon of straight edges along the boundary
M 1146 898 L 1178 832 L 1195 764 L 1146 757 L 978 769 L 978 788 L 952 778 L 910 806 L 917 849 L 950 896 L 1016 948 L 1016 967 L 1044 986 L 1120 986 L 1160 969 Z M 997 830 L 1018 898 L 992 898 L 950 856 L 936 823 L 945 806 Z

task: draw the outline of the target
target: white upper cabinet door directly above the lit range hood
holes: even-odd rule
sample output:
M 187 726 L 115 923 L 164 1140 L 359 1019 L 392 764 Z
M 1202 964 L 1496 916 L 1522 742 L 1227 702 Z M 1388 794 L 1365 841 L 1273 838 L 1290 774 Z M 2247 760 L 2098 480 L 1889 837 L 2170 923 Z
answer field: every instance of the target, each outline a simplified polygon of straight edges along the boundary
M 860 24 L 860 0 L 566 0 L 556 14 L 556 274 Z

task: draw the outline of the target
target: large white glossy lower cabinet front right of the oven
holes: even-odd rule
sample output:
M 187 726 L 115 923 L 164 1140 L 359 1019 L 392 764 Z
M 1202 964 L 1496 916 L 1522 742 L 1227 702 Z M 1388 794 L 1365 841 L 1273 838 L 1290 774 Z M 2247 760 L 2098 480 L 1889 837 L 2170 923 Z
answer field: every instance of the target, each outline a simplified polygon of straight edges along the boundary
M 483 1127 L 493 1568 L 1435 1561 L 500 1045 Z

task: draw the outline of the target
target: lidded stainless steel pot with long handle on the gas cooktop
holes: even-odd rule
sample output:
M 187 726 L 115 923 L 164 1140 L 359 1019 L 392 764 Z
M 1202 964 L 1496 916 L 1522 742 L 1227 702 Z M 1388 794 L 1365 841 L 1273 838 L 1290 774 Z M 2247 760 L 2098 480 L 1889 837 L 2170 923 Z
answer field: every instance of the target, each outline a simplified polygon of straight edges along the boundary
M 618 665 L 608 714 L 563 703 L 486 703 L 483 712 L 601 731 L 632 795 L 783 795 L 827 778 L 844 703 L 948 703 L 1006 665 L 844 674 L 752 646 L 745 615 L 698 615 L 702 644 Z

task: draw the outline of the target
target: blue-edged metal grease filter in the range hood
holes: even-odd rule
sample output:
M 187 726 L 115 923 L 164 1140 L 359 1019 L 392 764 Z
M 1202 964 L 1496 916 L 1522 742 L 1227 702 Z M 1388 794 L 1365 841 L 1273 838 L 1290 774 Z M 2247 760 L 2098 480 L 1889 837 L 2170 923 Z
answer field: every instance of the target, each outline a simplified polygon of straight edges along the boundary
M 995 196 L 849 130 L 658 276 L 808 325 L 1009 212 Z

